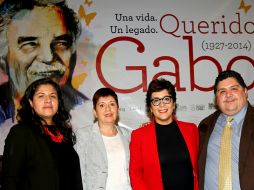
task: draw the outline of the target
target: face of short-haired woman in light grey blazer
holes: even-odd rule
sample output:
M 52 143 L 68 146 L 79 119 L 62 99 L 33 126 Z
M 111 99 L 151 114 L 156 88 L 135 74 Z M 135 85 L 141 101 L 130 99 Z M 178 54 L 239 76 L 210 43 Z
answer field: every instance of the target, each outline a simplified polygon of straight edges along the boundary
M 118 118 L 118 104 L 112 96 L 100 97 L 93 110 L 100 125 L 115 125 Z

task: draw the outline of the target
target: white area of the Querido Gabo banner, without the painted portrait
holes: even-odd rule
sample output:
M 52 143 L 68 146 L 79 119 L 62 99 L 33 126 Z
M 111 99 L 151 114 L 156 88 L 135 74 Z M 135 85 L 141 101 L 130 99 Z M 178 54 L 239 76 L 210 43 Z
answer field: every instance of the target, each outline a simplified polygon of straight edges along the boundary
M 145 94 L 158 77 L 175 84 L 180 120 L 198 124 L 215 110 L 214 80 L 226 69 L 242 74 L 254 103 L 253 0 L 67 3 L 82 24 L 72 85 L 89 99 L 71 110 L 76 129 L 93 122 L 91 98 L 104 86 L 118 94 L 120 125 L 147 122 Z M 0 127 L 1 147 L 12 124 Z

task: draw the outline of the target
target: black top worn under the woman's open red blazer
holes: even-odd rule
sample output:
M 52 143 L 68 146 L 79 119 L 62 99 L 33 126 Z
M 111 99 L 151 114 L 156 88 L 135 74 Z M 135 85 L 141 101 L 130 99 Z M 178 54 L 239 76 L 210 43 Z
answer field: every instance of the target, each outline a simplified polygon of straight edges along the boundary
M 190 155 L 177 123 L 155 126 L 164 190 L 193 190 Z

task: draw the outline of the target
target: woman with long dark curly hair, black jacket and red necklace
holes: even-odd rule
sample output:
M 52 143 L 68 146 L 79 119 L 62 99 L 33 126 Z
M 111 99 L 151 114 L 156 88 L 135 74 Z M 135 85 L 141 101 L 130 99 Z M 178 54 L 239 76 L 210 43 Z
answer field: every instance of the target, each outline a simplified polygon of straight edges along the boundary
M 4 190 L 81 190 L 75 136 L 58 84 L 33 82 L 21 99 L 17 122 L 5 140 Z

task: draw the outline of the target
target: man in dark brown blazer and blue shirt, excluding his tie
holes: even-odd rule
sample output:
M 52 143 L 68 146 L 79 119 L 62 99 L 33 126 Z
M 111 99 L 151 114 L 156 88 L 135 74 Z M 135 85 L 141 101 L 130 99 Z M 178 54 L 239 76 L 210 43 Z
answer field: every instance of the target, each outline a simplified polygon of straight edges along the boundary
M 199 124 L 200 189 L 219 189 L 220 143 L 228 116 L 233 117 L 231 189 L 254 189 L 254 107 L 248 102 L 247 86 L 238 72 L 227 70 L 216 78 L 214 94 L 218 110 Z

